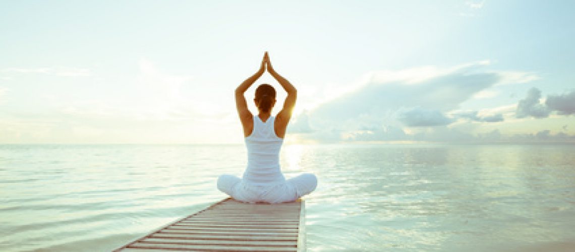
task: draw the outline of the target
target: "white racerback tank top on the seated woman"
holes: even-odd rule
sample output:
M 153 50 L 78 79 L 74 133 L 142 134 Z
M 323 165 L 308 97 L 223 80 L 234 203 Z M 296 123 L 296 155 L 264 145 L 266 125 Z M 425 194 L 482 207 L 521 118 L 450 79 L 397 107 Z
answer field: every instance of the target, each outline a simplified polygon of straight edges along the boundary
M 275 117 L 262 122 L 254 116 L 254 129 L 245 138 L 248 149 L 248 166 L 243 180 L 251 185 L 274 185 L 285 181 L 279 168 L 279 149 L 283 139 L 275 134 Z

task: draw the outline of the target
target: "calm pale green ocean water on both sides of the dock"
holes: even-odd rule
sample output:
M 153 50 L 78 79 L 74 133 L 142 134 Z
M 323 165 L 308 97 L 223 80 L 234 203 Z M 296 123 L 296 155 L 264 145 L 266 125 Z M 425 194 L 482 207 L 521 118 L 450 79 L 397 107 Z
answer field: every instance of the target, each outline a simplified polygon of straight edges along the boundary
M 285 145 L 310 251 L 575 251 L 575 145 Z M 109 251 L 225 195 L 243 145 L 0 145 L 0 251 Z

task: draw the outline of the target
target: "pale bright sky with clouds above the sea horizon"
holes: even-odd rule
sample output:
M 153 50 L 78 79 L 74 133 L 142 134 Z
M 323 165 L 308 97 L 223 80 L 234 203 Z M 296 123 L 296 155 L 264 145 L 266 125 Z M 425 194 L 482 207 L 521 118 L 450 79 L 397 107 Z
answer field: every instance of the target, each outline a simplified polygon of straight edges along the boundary
M 0 144 L 238 144 L 269 52 L 286 142 L 575 142 L 575 2 L 0 1 Z M 269 73 L 281 110 L 285 91 Z

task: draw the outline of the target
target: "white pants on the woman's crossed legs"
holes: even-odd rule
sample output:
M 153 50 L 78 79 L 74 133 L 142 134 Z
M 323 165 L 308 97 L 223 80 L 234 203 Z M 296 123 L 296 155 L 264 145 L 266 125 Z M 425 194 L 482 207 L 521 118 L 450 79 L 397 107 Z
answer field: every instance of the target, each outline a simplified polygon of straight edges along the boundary
M 304 173 L 285 183 L 275 185 L 250 185 L 239 177 L 221 175 L 217 180 L 217 188 L 236 200 L 255 203 L 282 203 L 297 200 L 315 190 L 317 178 L 311 173 Z

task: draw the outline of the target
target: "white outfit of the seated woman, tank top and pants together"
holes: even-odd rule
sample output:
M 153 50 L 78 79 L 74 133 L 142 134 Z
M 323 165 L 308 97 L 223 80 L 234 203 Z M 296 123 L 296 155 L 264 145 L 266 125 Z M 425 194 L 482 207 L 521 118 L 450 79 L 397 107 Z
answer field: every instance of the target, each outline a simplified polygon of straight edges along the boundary
M 243 177 L 221 175 L 217 181 L 220 191 L 236 200 L 268 203 L 294 201 L 312 192 L 317 186 L 315 175 L 305 173 L 286 180 L 279 167 L 279 150 L 283 138 L 274 130 L 275 117 L 263 122 L 254 116 L 254 129 L 245 138 L 248 164 Z

